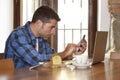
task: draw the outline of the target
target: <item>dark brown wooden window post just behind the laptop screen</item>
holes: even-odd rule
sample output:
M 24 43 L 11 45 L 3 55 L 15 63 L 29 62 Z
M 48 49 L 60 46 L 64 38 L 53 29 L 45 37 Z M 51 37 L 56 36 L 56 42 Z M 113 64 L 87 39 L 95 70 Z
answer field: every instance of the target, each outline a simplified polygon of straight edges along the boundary
M 97 0 L 89 0 L 88 21 L 88 55 L 93 57 L 94 42 L 97 31 Z

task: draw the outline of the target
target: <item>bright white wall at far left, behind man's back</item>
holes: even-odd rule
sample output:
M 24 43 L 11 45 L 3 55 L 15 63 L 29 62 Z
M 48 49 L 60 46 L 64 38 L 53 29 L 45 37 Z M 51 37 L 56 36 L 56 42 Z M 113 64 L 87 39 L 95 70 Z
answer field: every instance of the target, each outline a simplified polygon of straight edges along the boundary
M 13 0 L 0 0 L 0 53 L 4 52 L 5 41 L 13 29 Z

